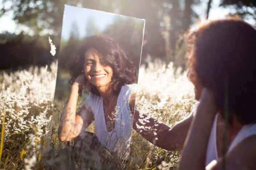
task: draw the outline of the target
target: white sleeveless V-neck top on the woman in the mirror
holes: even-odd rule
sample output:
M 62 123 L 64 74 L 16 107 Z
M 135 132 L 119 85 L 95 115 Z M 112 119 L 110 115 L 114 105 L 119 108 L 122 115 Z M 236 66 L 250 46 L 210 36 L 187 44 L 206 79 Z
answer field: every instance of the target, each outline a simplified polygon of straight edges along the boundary
M 133 129 L 133 116 L 130 111 L 129 99 L 131 94 L 136 93 L 136 90 L 137 84 L 122 86 L 117 98 L 115 127 L 111 132 L 106 129 L 102 97 L 90 94 L 84 102 L 93 113 L 95 134 L 98 140 L 111 152 L 121 154 L 123 149 L 129 147 Z

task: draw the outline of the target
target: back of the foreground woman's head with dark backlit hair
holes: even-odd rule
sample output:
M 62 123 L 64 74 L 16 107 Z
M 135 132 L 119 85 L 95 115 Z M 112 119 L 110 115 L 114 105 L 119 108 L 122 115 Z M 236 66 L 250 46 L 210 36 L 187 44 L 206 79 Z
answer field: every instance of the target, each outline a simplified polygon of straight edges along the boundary
M 237 19 L 210 21 L 188 35 L 197 81 L 213 91 L 222 114 L 226 107 L 241 124 L 256 122 L 255 40 L 256 30 Z

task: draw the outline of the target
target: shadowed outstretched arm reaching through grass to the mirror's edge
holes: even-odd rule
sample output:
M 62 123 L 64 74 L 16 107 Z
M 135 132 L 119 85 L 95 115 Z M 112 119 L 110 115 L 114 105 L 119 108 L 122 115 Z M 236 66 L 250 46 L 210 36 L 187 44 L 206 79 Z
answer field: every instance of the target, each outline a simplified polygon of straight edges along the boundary
M 135 106 L 134 93 L 130 98 L 130 108 L 133 112 Z M 134 112 L 133 128 L 141 136 L 151 143 L 166 150 L 181 149 L 187 136 L 188 129 L 192 122 L 193 115 L 190 114 L 187 118 L 176 123 L 174 127 L 170 128 L 164 123 L 151 118 L 145 114 L 139 114 L 138 110 Z

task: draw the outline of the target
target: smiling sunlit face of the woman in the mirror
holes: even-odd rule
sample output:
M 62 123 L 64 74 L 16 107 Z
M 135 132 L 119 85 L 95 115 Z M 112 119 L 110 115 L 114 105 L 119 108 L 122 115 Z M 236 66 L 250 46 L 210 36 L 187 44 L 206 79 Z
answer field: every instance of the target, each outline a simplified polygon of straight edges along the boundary
M 97 52 L 89 50 L 85 53 L 84 73 L 90 83 L 97 89 L 105 91 L 110 85 L 113 69 L 108 65 L 102 65 Z

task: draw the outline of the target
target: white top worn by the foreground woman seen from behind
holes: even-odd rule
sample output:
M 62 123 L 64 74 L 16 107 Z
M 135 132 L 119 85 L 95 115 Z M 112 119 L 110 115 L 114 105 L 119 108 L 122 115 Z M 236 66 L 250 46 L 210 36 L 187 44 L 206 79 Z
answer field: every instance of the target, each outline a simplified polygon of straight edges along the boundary
M 216 131 L 217 131 L 217 120 L 218 114 L 215 115 L 214 123 L 212 125 L 210 138 L 208 141 L 207 152 L 206 152 L 206 166 L 212 161 L 218 160 L 218 151 L 216 144 Z M 231 145 L 228 148 L 230 152 L 237 144 L 243 141 L 245 138 L 256 135 L 256 123 L 244 125 L 243 128 L 237 133 L 235 139 L 232 141 Z

